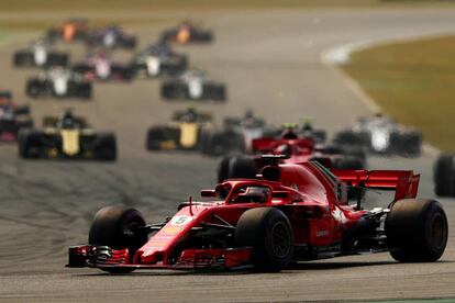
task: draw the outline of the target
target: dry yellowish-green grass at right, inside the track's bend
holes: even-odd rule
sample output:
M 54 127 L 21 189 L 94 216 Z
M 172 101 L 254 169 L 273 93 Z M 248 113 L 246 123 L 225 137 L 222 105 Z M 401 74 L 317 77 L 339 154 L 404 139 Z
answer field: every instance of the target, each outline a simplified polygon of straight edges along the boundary
M 455 150 L 455 36 L 360 50 L 343 69 L 386 113 Z

